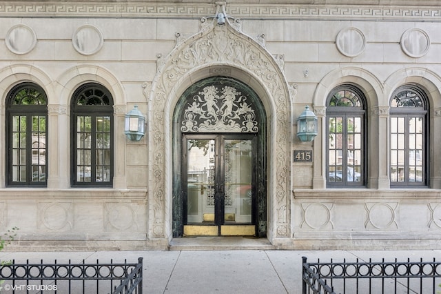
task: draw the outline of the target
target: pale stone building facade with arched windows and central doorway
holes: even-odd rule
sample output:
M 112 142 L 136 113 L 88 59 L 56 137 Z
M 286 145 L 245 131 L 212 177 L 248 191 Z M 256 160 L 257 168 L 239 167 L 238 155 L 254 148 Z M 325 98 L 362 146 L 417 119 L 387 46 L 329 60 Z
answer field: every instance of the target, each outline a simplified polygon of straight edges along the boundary
M 15 248 L 435 248 L 438 1 L 241 2 L 0 1 Z

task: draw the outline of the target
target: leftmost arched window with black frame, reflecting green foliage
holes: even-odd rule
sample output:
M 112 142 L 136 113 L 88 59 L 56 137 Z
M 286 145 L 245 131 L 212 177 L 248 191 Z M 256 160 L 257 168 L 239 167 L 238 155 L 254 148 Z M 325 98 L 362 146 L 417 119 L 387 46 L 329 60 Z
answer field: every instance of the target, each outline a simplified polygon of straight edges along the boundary
M 46 186 L 48 99 L 36 84 L 12 88 L 6 106 L 8 186 Z

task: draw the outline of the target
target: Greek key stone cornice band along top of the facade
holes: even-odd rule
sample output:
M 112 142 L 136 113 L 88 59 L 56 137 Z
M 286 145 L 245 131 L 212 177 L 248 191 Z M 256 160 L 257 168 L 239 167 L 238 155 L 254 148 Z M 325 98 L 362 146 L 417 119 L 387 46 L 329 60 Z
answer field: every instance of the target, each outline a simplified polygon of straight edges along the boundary
M 214 15 L 207 3 L 0 1 L 1 17 L 143 17 L 192 18 Z M 246 19 L 372 19 L 441 21 L 440 6 L 240 4 L 227 3 L 226 12 Z

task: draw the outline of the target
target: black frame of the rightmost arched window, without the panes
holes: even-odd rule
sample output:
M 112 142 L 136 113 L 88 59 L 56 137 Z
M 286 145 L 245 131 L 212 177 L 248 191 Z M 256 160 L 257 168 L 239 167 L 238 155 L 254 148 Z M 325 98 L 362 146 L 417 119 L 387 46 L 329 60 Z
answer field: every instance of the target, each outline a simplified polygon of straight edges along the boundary
M 413 106 L 399 106 L 398 104 L 396 106 L 393 106 L 393 104 L 396 104 L 395 99 L 399 99 L 398 95 L 400 95 L 402 92 L 413 92 L 416 94 L 420 101 L 418 101 L 421 106 L 416 106 L 415 104 Z M 402 97 L 402 96 L 400 96 Z M 407 97 L 407 95 L 406 95 Z M 400 86 L 397 88 L 393 95 L 391 96 L 391 99 L 389 101 L 390 110 L 389 110 L 389 124 L 391 124 L 391 130 L 389 131 L 389 140 L 391 141 L 391 146 L 389 148 L 389 156 L 390 164 L 389 164 L 389 182 L 391 188 L 427 188 L 429 186 L 429 99 L 426 95 L 426 92 L 422 90 L 419 86 L 415 84 L 406 84 L 403 86 Z M 405 119 L 404 126 L 409 126 L 409 121 L 412 118 L 422 118 L 422 181 L 417 182 L 416 180 L 411 181 L 411 178 L 409 177 L 409 170 L 410 170 L 410 159 L 409 157 L 404 157 L 404 181 L 398 182 L 398 181 L 392 181 L 393 177 L 393 171 L 392 171 L 392 146 L 393 146 L 393 130 L 392 130 L 392 119 L 394 117 L 403 117 Z M 404 133 L 404 155 L 407 153 L 410 153 L 410 141 L 409 141 L 409 128 L 405 128 Z M 414 176 L 416 179 L 416 175 Z

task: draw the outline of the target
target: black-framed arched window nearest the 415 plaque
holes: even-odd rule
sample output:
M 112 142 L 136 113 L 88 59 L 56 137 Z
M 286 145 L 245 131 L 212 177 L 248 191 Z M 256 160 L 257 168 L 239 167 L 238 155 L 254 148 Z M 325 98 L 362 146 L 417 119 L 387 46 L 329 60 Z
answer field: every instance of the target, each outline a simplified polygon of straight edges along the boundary
M 327 186 L 365 185 L 365 97 L 352 85 L 327 99 Z

